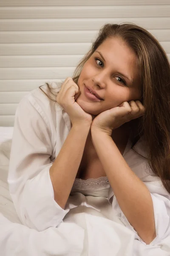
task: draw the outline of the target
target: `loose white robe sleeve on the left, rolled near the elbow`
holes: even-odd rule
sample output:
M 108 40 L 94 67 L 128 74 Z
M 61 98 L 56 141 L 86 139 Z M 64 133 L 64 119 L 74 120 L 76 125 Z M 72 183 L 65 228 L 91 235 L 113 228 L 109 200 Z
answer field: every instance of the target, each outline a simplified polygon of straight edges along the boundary
M 69 209 L 54 200 L 49 175 L 51 129 L 48 113 L 24 97 L 15 114 L 8 186 L 20 221 L 38 231 L 57 227 Z

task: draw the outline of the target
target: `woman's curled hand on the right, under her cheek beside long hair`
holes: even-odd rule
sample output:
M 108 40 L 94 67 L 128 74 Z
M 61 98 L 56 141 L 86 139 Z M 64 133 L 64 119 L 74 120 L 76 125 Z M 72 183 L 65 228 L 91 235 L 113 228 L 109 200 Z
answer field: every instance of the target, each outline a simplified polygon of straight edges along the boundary
M 132 100 L 129 103 L 122 102 L 119 106 L 97 115 L 91 123 L 91 130 L 99 130 L 111 136 L 113 129 L 118 128 L 125 122 L 143 116 L 143 114 L 144 106 L 139 100 Z

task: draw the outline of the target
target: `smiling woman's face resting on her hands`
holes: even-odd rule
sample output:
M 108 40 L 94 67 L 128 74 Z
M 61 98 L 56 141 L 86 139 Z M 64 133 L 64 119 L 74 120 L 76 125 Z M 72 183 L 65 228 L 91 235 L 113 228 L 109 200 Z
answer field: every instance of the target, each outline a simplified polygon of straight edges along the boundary
M 137 57 L 119 38 L 107 38 L 85 62 L 78 79 L 80 95 L 76 102 L 93 115 L 140 99 Z M 94 101 L 85 93 L 94 90 L 102 100 Z

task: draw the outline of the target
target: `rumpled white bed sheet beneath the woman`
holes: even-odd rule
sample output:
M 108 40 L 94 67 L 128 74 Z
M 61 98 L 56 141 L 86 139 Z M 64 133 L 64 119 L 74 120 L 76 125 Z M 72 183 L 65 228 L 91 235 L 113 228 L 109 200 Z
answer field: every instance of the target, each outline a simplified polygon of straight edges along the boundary
M 59 227 L 42 232 L 21 224 L 8 191 L 8 164 L 13 127 L 0 127 L 0 256 L 170 256 L 170 237 L 145 245 L 113 218 L 107 198 L 74 193 L 82 200 Z

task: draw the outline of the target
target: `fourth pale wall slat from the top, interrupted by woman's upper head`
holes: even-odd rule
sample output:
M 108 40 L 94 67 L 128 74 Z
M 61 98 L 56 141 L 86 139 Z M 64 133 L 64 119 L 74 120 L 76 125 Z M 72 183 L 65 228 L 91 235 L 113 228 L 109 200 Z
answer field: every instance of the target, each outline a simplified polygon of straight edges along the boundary
M 148 29 L 158 41 L 170 41 L 170 29 Z M 85 43 L 96 38 L 97 30 L 84 31 L 0 31 L 0 43 Z

